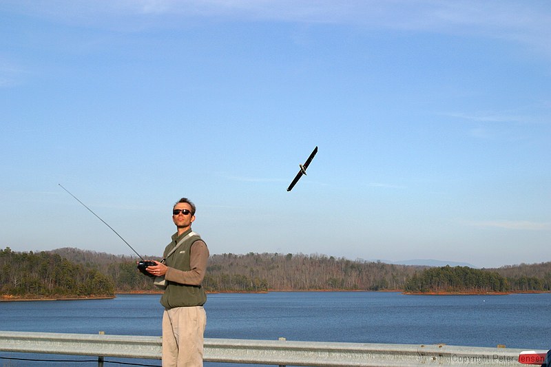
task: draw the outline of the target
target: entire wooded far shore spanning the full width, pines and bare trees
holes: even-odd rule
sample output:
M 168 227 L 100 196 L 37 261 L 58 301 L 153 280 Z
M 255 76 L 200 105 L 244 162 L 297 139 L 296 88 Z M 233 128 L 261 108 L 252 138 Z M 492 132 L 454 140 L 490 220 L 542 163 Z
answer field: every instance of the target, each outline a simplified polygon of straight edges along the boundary
M 7 248 L 0 251 L 0 271 L 3 295 L 82 297 L 156 291 L 152 278 L 136 269 L 135 258 L 72 248 L 41 253 Z M 551 262 L 499 269 L 433 268 L 320 254 L 223 253 L 209 258 L 203 286 L 210 292 L 551 291 Z

